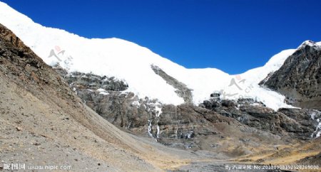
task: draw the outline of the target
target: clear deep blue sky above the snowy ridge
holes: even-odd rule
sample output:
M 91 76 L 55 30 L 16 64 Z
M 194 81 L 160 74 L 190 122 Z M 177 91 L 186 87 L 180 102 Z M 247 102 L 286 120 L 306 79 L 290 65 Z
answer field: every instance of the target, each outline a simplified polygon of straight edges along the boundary
M 3 0 L 0 0 L 3 1 Z M 7 0 L 36 23 L 86 38 L 123 38 L 186 68 L 230 74 L 321 41 L 319 0 Z

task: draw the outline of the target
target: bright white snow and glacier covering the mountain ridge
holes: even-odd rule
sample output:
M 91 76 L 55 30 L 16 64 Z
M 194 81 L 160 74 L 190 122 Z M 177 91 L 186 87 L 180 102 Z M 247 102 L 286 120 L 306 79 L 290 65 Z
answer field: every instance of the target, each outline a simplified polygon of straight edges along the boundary
M 259 87 L 258 82 L 280 68 L 295 50 L 284 50 L 273 56 L 261 68 L 240 75 L 228 75 L 214 69 L 186 69 L 135 43 L 118 38 L 83 38 L 57 28 L 34 23 L 31 18 L 0 2 L 0 23 L 14 31 L 26 45 L 49 65 L 59 63 L 68 71 L 93 72 L 125 80 L 139 97 L 157 98 L 165 104 L 181 104 L 183 99 L 175 89 L 151 69 L 157 65 L 168 75 L 193 90 L 193 102 L 198 104 L 210 93 L 221 92 L 225 99 L 253 97 L 271 107 L 288 107 L 277 92 Z M 56 56 L 55 56 L 56 55 Z

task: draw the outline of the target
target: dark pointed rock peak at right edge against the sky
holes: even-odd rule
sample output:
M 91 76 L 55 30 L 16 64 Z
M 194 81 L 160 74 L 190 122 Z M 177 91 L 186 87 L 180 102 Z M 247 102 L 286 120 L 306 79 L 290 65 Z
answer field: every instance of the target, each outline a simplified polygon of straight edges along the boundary
M 321 47 L 303 44 L 282 67 L 260 82 L 287 97 L 289 104 L 321 109 Z

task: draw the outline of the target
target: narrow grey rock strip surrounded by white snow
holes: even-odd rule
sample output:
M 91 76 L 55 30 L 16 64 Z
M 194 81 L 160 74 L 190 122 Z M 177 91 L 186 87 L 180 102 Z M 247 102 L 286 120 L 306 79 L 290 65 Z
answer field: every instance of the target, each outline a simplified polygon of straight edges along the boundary
M 185 104 L 193 104 L 193 95 L 192 90 L 190 90 L 184 83 L 179 82 L 174 77 L 171 77 L 161 68 L 156 65 L 151 65 L 152 70 L 159 76 L 161 76 L 169 85 L 172 85 L 175 89 L 175 92 L 179 97 L 182 97 Z

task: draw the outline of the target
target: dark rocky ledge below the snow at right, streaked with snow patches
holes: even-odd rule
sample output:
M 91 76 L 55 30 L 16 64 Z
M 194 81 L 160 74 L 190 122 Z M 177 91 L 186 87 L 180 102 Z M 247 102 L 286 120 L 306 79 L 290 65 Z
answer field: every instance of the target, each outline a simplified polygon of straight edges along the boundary
M 311 117 L 311 114 L 317 114 L 316 119 L 320 116 L 320 112 L 316 110 L 282 108 L 275 112 L 262 102 L 252 99 L 220 100 L 218 95 L 205 100 L 200 107 L 279 136 L 312 139 L 318 133 L 315 130 L 319 123 Z

